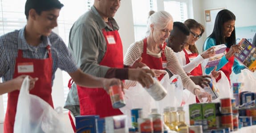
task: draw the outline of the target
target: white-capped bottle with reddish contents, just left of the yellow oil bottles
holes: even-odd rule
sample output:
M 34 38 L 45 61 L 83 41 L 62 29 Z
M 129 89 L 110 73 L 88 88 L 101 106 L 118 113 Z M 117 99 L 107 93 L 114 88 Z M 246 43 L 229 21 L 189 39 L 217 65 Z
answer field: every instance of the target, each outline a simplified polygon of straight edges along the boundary
M 161 119 L 161 114 L 158 113 L 158 110 L 151 109 L 149 117 L 152 118 L 153 121 L 153 132 L 163 133 L 163 121 Z

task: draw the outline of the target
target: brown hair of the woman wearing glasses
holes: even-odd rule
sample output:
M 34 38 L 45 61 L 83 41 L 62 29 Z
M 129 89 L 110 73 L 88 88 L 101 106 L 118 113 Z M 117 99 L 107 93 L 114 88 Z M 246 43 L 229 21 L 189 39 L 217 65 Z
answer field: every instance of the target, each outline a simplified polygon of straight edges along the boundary
M 184 22 L 184 24 L 188 27 L 188 29 L 196 29 L 199 28 L 201 31 L 200 35 L 203 35 L 204 32 L 204 27 L 201 23 L 198 23 L 197 21 L 193 20 L 193 19 L 188 19 Z M 192 53 L 197 53 L 199 54 L 197 48 L 195 45 L 189 45 L 188 49 L 192 52 Z

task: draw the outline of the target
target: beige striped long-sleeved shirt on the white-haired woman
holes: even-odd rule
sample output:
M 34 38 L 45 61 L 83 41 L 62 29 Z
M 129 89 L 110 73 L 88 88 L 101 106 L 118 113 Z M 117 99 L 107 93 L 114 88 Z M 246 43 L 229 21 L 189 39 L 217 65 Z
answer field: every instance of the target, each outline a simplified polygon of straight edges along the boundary
M 143 53 L 143 40 L 131 44 L 131 46 L 128 48 L 128 51 L 126 52 L 126 55 L 124 58 L 124 64 L 131 65 L 132 63 L 134 63 L 136 59 L 141 57 L 142 53 Z M 147 49 L 146 53 L 148 55 L 152 55 L 157 58 L 161 57 L 161 52 L 158 54 L 154 54 Z M 167 69 L 170 70 L 171 73 L 173 74 L 180 75 L 184 88 L 186 88 L 187 90 L 191 91 L 192 94 L 194 94 L 194 89 L 198 87 L 184 72 L 182 66 L 179 64 L 179 61 L 175 55 L 175 52 L 171 50 L 170 47 L 165 47 L 164 53 L 167 59 Z M 126 86 L 134 86 L 134 83 L 131 83 L 128 81 L 126 83 L 127 83 Z

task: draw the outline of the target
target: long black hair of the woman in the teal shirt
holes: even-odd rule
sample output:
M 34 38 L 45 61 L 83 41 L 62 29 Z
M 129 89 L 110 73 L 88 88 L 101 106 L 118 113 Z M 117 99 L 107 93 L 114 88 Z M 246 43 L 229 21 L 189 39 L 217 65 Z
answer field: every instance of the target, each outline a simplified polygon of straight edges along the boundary
M 229 20 L 236 20 L 236 16 L 229 10 L 223 9 L 218 12 L 214 28 L 209 37 L 214 38 L 216 40 L 216 45 L 227 43 L 227 47 L 231 47 L 232 45 L 236 44 L 236 31 L 235 27 L 231 33 L 231 36 L 228 38 L 224 38 L 223 35 L 223 24 L 228 22 Z

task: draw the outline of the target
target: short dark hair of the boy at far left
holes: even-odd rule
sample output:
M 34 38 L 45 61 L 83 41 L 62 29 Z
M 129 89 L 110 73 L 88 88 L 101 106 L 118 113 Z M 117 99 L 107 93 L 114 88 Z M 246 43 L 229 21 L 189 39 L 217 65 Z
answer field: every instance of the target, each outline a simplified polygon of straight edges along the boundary
M 61 9 L 64 5 L 59 0 L 27 0 L 25 4 L 25 15 L 28 20 L 28 12 L 30 9 L 35 9 L 37 14 L 42 11 L 49 11 L 52 9 Z

